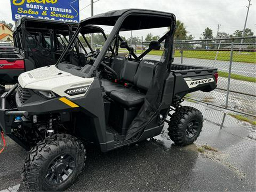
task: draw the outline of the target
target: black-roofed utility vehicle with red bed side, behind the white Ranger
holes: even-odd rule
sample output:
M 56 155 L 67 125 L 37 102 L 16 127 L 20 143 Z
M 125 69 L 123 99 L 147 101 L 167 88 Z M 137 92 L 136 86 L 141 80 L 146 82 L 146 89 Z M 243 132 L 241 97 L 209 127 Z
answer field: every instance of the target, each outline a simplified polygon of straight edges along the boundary
M 20 18 L 13 32 L 15 48 L 0 49 L 0 93 L 17 83 L 21 73 L 55 64 L 77 27 L 77 23 L 71 22 Z M 84 54 L 93 51 L 85 37 L 90 32 L 101 33 L 106 38 L 101 28 L 88 26 L 80 32 L 77 51 L 66 55 L 66 61 L 84 65 Z M 86 44 L 86 49 L 82 43 Z

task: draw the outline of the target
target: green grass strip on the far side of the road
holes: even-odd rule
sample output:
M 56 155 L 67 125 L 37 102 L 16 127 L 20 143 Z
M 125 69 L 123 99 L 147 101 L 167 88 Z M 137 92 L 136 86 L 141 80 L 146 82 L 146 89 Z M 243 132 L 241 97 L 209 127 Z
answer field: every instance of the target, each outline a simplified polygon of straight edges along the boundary
M 120 52 L 127 51 L 126 49 L 121 49 Z M 136 51 L 137 54 L 141 54 L 141 50 Z M 183 57 L 189 57 L 189 58 L 198 58 L 198 59 L 215 59 L 217 51 L 195 51 L 195 50 L 185 50 L 183 51 Z M 162 55 L 163 50 L 153 50 L 148 53 L 149 55 Z M 179 50 L 175 50 L 174 53 L 175 57 L 181 57 L 181 53 Z M 217 60 L 219 61 L 229 61 L 230 60 L 230 51 L 219 51 Z M 240 52 L 234 51 L 233 52 L 233 61 L 237 62 L 245 62 L 245 63 L 256 63 L 256 52 Z

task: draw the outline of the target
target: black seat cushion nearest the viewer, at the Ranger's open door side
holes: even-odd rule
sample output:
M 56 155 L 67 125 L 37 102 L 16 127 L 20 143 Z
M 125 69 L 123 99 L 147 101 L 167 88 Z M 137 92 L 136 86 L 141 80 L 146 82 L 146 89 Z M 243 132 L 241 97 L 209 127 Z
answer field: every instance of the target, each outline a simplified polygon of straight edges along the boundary
M 123 88 L 110 93 L 110 98 L 127 107 L 134 107 L 143 104 L 145 94 L 134 89 Z

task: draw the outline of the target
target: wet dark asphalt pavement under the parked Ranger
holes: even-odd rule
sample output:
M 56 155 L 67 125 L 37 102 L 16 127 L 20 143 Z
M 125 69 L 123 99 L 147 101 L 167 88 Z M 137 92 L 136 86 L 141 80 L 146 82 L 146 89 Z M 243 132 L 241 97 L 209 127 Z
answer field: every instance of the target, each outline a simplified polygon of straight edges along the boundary
M 67 191 L 255 191 L 255 127 L 228 117 L 220 130 L 208 120 L 212 109 L 200 110 L 206 117 L 203 131 L 190 146 L 175 146 L 167 126 L 154 140 L 108 153 L 90 146 L 85 168 Z M 204 144 L 216 151 L 199 152 Z M 20 174 L 25 155 L 7 138 L 0 154 L 0 191 L 24 191 Z

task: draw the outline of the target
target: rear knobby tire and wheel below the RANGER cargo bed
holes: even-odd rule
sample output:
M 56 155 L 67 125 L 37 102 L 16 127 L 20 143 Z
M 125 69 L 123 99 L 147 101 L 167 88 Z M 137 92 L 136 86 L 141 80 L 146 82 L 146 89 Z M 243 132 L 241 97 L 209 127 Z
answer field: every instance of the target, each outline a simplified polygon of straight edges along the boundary
M 202 113 L 193 107 L 183 106 L 170 118 L 168 135 L 176 145 L 185 146 L 197 140 L 202 127 Z

